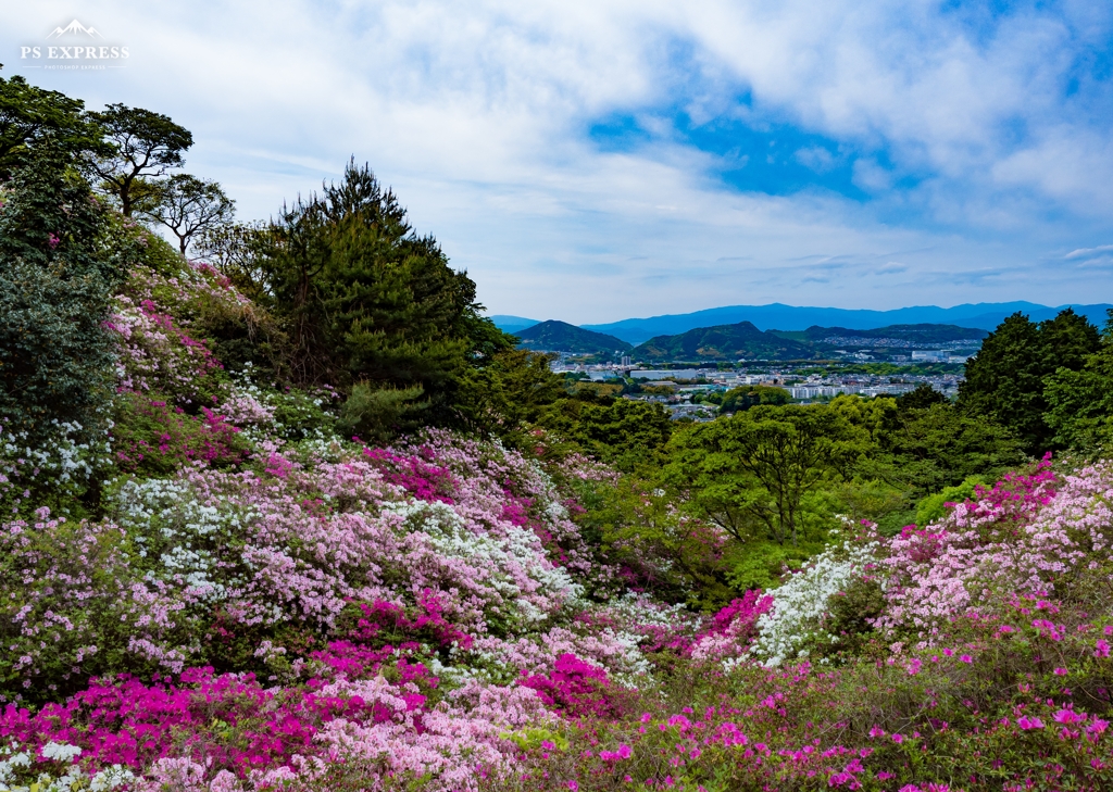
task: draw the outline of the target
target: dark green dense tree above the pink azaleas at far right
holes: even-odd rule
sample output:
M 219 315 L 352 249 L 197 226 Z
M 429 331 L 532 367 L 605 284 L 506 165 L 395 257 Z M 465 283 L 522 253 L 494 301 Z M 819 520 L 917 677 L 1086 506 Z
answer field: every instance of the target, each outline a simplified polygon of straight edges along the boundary
M 1099 346 L 1097 329 L 1070 308 L 1040 324 L 1013 314 L 966 364 L 958 405 L 1011 429 L 1030 454 L 1042 454 L 1054 445 L 1044 419 L 1044 378 L 1058 369 L 1082 369 Z

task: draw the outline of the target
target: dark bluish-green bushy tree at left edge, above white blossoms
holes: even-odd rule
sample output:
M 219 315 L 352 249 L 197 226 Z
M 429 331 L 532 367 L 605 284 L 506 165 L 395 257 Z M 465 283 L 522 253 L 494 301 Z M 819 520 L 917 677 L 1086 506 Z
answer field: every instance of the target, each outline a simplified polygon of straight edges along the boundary
M 104 210 L 57 151 L 16 174 L 0 208 L 0 423 L 41 438 L 107 417 L 114 347 L 102 327 L 120 263 Z

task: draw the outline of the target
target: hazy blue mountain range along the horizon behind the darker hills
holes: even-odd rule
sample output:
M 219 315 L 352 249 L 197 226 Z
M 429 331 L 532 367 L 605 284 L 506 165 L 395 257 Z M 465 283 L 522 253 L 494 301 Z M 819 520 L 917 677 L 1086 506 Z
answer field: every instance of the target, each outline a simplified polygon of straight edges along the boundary
M 677 335 L 700 327 L 718 327 L 749 321 L 759 330 L 800 330 L 812 326 L 851 330 L 874 330 L 893 325 L 958 325 L 981 330 L 992 330 L 1009 314 L 1027 314 L 1033 321 L 1053 318 L 1064 308 L 1089 318 L 1099 327 L 1105 325 L 1105 311 L 1113 305 L 1046 306 L 1036 303 L 977 303 L 956 305 L 953 308 L 916 306 L 894 310 L 851 310 L 846 308 L 797 307 L 774 303 L 771 305 L 736 305 L 709 308 L 692 314 L 653 316 L 643 319 L 623 319 L 605 325 L 583 325 L 582 329 L 604 333 L 629 344 L 641 344 L 661 335 Z M 521 316 L 492 316 L 492 320 L 508 333 L 521 335 L 536 320 Z

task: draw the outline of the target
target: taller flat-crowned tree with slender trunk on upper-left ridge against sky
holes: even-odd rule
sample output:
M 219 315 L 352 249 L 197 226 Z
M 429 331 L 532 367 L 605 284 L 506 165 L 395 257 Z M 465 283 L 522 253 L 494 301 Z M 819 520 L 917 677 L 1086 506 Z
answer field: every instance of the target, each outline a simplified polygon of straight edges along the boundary
M 169 116 L 125 105 L 109 105 L 89 117 L 107 143 L 93 168 L 105 190 L 119 201 L 120 212 L 130 217 L 145 199 L 157 198 L 150 179 L 183 166 L 181 155 L 194 145 L 194 136 Z

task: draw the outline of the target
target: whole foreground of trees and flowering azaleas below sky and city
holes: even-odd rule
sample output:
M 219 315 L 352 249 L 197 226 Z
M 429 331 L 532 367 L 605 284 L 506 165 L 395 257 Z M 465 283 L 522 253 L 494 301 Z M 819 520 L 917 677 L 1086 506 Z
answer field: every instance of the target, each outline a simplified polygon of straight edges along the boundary
M 670 420 L 191 146 L 0 79 L 0 790 L 1113 785 L 1113 321 Z

